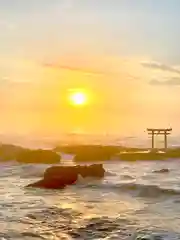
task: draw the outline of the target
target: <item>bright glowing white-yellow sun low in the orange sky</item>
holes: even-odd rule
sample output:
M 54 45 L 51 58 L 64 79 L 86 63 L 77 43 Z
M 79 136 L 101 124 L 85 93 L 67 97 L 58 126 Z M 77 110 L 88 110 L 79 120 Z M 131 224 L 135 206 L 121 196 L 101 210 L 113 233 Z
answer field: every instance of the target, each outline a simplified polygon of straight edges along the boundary
M 88 96 L 84 91 L 76 90 L 70 93 L 69 100 L 72 105 L 84 106 L 88 102 Z

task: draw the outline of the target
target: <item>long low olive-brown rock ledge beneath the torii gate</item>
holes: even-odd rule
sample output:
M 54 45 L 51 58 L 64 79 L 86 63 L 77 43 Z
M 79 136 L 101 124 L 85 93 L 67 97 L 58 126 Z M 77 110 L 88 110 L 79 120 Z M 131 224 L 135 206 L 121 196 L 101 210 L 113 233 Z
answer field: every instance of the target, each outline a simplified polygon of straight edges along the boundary
M 150 151 L 149 151 L 150 150 Z M 111 159 L 136 161 L 136 160 L 167 160 L 169 158 L 180 158 L 180 148 L 149 149 L 132 148 L 124 146 L 105 145 L 66 145 L 54 149 L 56 152 L 63 152 L 75 155 L 75 162 L 108 161 Z M 149 151 L 149 152 L 148 152 Z

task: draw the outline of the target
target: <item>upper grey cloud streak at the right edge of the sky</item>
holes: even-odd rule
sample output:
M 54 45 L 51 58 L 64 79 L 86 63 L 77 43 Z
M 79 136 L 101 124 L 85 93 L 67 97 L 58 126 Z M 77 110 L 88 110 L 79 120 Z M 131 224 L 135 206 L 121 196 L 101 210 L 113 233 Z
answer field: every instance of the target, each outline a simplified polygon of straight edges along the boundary
M 141 64 L 142 64 L 143 67 L 180 74 L 180 70 L 179 69 L 176 69 L 173 66 L 166 65 L 166 64 L 163 64 L 163 63 L 142 62 Z

